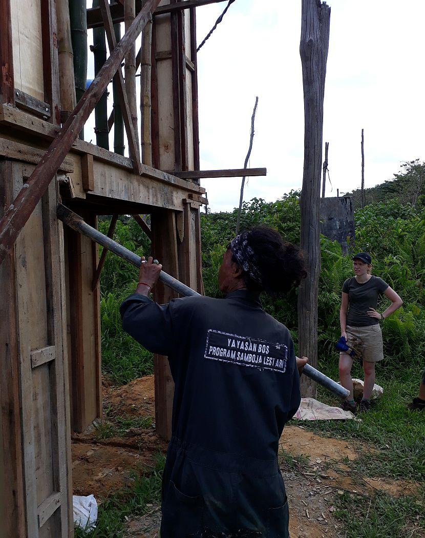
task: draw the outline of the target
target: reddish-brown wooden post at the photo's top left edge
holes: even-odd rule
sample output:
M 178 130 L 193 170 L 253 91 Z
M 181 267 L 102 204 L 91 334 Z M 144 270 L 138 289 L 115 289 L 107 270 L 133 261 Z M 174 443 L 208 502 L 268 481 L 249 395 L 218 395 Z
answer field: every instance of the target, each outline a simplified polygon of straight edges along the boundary
M 0 103 L 15 104 L 10 0 L 0 2 Z

